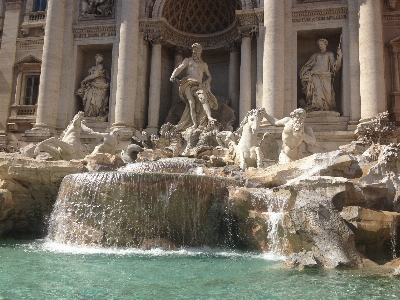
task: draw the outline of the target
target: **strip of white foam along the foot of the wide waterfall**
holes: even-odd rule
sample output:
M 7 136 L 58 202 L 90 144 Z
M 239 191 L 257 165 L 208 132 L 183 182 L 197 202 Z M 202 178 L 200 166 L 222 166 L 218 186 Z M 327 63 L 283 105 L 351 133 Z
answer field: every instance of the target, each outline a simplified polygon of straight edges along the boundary
M 118 248 L 118 247 L 91 247 L 77 246 L 71 244 L 61 244 L 51 240 L 38 240 L 34 243 L 24 244 L 21 247 L 27 251 L 51 252 L 58 254 L 71 255 L 116 255 L 116 256 L 149 256 L 149 257 L 198 257 L 212 256 L 225 257 L 232 259 L 263 259 L 268 261 L 284 261 L 285 256 L 275 255 L 272 253 L 251 253 L 239 252 L 234 250 L 225 250 L 220 248 L 200 247 L 200 248 L 181 248 L 179 250 L 164 250 L 161 248 L 153 248 L 143 250 L 138 248 Z

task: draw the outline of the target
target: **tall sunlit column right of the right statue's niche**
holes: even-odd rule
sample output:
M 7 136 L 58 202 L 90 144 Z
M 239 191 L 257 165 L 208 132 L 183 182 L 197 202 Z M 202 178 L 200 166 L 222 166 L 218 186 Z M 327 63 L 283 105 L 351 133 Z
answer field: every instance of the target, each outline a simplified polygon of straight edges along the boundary
M 386 110 L 381 1 L 359 0 L 361 119 Z

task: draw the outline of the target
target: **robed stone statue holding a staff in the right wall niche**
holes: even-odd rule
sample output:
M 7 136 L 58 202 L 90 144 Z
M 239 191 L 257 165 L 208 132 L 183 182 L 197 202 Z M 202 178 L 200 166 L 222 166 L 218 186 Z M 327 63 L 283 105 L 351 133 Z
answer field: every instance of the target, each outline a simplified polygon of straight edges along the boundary
M 303 93 L 306 95 L 307 111 L 336 111 L 333 80 L 335 73 L 342 66 L 342 50 L 340 44 L 337 59 L 327 51 L 328 41 L 319 39 L 320 52 L 315 53 L 300 70 Z

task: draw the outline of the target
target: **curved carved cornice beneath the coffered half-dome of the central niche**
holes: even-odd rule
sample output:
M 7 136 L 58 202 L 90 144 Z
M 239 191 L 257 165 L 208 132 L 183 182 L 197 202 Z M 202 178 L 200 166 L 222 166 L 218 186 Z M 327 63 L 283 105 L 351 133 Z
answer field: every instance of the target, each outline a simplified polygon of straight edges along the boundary
M 194 43 L 200 43 L 203 49 L 223 48 L 240 39 L 237 22 L 224 31 L 213 34 L 191 34 L 172 27 L 165 18 L 140 19 L 140 32 L 145 40 L 161 38 L 165 43 L 183 48 L 190 48 Z

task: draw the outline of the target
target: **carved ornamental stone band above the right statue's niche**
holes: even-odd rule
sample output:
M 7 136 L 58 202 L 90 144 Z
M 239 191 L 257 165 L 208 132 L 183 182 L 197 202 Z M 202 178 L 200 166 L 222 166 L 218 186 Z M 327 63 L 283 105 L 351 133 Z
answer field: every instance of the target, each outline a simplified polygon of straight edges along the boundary
M 346 6 L 336 8 L 300 9 L 293 10 L 292 21 L 315 22 L 347 19 L 348 9 Z

